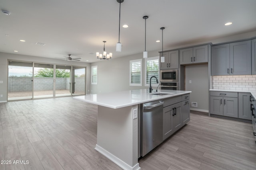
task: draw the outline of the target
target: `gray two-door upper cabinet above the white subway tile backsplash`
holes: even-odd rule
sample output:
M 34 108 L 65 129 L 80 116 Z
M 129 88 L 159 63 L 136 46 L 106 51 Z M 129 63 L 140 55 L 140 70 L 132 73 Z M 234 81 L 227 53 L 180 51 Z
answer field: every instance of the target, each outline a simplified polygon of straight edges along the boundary
M 212 76 L 252 74 L 251 41 L 212 47 Z

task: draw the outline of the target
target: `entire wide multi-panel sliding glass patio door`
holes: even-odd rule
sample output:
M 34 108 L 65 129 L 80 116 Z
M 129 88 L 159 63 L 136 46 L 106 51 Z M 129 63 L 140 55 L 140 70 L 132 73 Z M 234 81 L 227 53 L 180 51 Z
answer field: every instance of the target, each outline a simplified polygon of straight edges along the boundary
M 8 61 L 8 101 L 86 94 L 86 68 Z

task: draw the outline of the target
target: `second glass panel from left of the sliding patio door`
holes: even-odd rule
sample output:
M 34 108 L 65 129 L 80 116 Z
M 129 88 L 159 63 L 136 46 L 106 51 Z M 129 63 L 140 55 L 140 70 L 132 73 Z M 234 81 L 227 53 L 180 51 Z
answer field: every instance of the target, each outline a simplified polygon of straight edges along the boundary
M 53 64 L 34 63 L 34 98 L 53 97 Z

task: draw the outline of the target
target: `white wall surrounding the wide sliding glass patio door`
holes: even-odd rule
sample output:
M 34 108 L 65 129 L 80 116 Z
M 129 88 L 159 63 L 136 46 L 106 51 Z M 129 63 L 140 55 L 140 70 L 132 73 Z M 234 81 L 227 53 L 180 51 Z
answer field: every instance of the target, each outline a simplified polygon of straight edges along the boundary
M 10 54 L 10 53 L 0 53 L 0 80 L 3 81 L 3 83 L 0 84 L 0 94 L 3 95 L 3 97 L 0 98 L 0 102 L 7 101 L 8 60 L 84 66 L 84 67 L 86 67 L 87 93 L 90 93 L 90 78 L 91 78 L 90 77 L 90 75 L 91 75 L 91 69 L 90 69 L 91 64 L 90 63 L 77 62 L 77 61 L 66 61 L 66 60 L 58 60 L 58 59 L 51 59 L 51 58 L 45 58 L 45 57 L 34 57 L 34 56 L 27 56 L 27 55 Z

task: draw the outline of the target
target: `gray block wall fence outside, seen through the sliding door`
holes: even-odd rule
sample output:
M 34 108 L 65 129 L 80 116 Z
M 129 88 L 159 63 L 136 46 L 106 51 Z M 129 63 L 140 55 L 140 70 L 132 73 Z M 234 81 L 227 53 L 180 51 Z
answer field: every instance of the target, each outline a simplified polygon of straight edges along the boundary
M 9 77 L 8 78 L 8 92 L 27 92 L 32 90 L 32 78 L 23 77 Z M 69 90 L 70 78 L 56 78 L 56 90 Z M 75 78 L 75 91 L 85 92 L 85 78 Z M 35 77 L 34 90 L 52 90 L 53 78 Z

